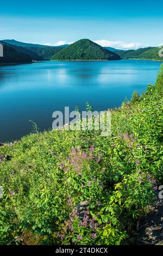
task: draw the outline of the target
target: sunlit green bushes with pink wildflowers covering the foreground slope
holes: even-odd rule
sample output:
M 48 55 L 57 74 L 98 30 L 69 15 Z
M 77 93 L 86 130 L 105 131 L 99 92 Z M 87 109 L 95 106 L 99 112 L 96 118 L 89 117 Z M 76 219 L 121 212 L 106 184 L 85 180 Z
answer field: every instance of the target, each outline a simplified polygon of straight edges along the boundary
M 0 147 L 1 245 L 134 242 L 135 220 L 163 182 L 162 74 L 156 86 L 111 110 L 111 136 L 40 133 L 35 126 L 35 133 Z

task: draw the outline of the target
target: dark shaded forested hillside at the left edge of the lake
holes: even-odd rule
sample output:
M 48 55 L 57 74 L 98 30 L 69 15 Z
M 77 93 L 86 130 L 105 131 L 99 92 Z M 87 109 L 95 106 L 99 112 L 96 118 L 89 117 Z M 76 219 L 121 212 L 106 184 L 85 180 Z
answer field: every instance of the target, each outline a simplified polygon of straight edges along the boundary
M 3 57 L 0 58 L 0 63 L 30 63 L 32 58 L 27 54 L 17 52 L 11 45 L 0 41 L 3 45 Z

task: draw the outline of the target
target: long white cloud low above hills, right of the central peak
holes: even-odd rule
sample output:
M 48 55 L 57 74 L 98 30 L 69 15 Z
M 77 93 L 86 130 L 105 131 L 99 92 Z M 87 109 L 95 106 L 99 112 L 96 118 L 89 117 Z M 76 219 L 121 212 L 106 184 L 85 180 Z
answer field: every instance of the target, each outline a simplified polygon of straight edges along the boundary
M 96 44 L 101 45 L 103 47 L 114 47 L 122 50 L 130 50 L 130 49 L 138 49 L 141 47 L 148 47 L 148 45 L 143 45 L 140 42 L 123 42 L 123 41 L 109 41 L 109 40 L 95 40 Z

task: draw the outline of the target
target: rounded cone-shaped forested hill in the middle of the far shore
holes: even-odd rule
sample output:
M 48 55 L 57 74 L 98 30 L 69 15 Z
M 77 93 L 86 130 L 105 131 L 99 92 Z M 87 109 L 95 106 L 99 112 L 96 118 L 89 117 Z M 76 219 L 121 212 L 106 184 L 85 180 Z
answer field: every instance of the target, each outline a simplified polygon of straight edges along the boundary
M 111 52 L 89 39 L 81 39 L 54 54 L 53 60 L 117 60 L 118 54 Z

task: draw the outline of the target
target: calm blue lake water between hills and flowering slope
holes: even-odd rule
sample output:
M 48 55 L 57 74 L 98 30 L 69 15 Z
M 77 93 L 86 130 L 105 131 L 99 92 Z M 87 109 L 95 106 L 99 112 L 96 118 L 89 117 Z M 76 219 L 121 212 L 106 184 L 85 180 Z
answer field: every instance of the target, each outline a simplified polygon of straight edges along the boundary
M 0 142 L 20 139 L 32 131 L 29 119 L 40 130 L 52 129 L 52 113 L 96 111 L 118 107 L 134 90 L 142 93 L 155 82 L 160 62 L 150 60 L 45 61 L 0 66 Z

